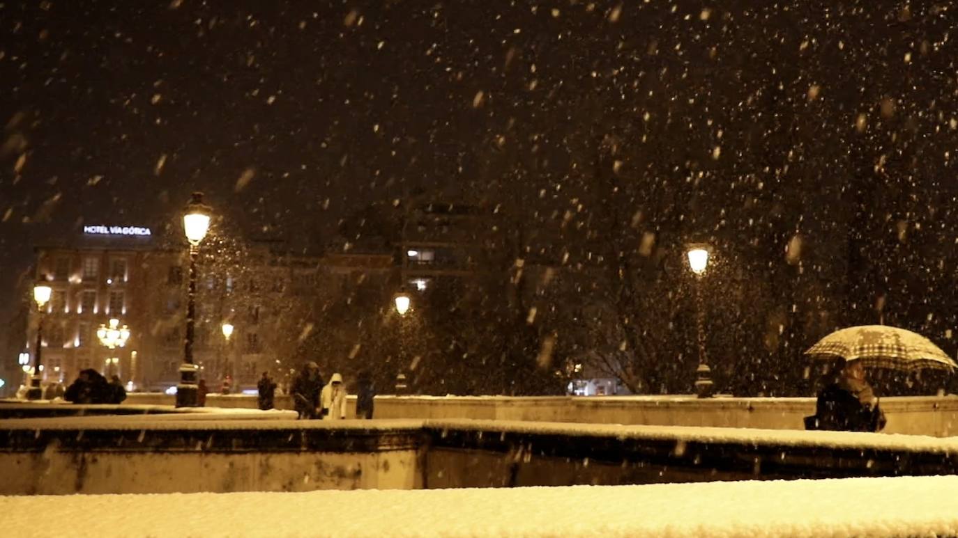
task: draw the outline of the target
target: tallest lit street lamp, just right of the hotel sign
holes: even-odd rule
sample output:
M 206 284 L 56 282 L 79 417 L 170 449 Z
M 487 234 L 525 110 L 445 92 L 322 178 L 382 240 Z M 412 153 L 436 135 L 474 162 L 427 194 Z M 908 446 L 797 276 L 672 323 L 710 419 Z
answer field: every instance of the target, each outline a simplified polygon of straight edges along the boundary
M 199 244 L 210 229 L 210 207 L 203 204 L 203 193 L 194 192 L 193 199 L 187 204 L 183 215 L 183 231 L 190 242 L 190 287 L 187 291 L 186 338 L 183 344 L 183 364 L 180 366 L 180 380 L 176 385 L 176 407 L 196 407 L 196 395 L 199 392 L 197 382 L 198 369 L 193 362 L 194 317 L 196 307 L 196 257 Z

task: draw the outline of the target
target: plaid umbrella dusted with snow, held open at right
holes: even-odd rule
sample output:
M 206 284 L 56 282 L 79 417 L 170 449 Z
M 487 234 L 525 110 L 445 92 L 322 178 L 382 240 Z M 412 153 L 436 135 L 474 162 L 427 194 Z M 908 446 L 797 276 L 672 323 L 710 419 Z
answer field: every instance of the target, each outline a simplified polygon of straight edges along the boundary
M 905 371 L 958 368 L 951 357 L 921 334 L 885 325 L 835 331 L 811 346 L 805 355 L 818 359 L 861 360 L 863 366 Z

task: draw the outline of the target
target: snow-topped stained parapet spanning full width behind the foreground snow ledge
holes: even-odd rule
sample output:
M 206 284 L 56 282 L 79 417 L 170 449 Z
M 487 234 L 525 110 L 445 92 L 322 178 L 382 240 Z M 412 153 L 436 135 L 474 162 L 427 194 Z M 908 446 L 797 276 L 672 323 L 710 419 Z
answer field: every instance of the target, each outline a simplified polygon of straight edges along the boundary
M 216 415 L 0 420 L 0 493 L 614 485 L 958 470 L 958 438 L 518 420 L 207 417 Z

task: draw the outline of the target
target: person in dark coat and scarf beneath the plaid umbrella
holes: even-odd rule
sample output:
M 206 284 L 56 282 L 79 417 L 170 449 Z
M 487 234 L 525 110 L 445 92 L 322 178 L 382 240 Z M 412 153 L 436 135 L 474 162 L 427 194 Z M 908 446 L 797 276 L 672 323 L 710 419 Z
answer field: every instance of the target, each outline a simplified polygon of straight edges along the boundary
M 885 427 L 885 415 L 860 361 L 846 362 L 840 376 L 818 393 L 815 414 L 806 418 L 805 425 L 810 430 L 850 432 L 878 432 Z

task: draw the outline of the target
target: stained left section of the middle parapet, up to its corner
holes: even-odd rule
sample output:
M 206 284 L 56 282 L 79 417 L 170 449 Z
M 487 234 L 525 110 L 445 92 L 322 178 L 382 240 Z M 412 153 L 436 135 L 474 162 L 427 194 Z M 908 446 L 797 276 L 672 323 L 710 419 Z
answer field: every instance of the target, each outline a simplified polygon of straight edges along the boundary
M 6 426 L 18 420 L 4 420 Z M 86 419 L 0 429 L 0 494 L 415 489 L 416 428 L 236 428 Z M 231 422 L 232 424 L 232 422 Z

